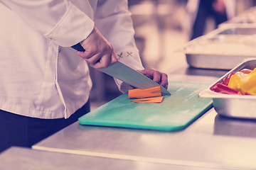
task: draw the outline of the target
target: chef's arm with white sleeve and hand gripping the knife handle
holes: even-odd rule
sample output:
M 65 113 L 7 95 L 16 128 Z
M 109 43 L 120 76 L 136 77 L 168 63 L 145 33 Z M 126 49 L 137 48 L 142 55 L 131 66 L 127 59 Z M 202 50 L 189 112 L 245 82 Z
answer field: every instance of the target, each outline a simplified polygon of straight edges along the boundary
M 85 7 L 80 11 L 65 0 L 4 0 L 3 3 L 56 44 L 70 47 L 80 42 L 85 52 L 78 54 L 95 68 L 107 67 L 117 62 L 112 45 L 90 19 L 93 18 L 92 8 Z M 82 3 L 83 6 L 91 6 L 89 1 Z

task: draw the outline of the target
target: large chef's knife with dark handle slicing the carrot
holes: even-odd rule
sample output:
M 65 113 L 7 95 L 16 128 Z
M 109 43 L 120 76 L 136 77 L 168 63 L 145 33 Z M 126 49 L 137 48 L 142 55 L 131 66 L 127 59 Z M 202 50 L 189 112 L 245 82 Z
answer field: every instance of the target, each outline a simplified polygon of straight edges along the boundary
M 85 49 L 80 45 L 80 43 L 72 46 L 75 50 L 85 51 Z M 110 75 L 116 79 L 124 81 L 125 83 L 134 86 L 138 89 L 149 89 L 155 86 L 160 86 L 161 94 L 163 96 L 171 95 L 163 86 L 156 83 L 155 81 L 149 79 L 149 77 L 144 76 L 143 74 L 137 72 L 136 70 L 128 67 L 122 62 L 115 62 L 107 68 L 98 69 L 100 72 Z

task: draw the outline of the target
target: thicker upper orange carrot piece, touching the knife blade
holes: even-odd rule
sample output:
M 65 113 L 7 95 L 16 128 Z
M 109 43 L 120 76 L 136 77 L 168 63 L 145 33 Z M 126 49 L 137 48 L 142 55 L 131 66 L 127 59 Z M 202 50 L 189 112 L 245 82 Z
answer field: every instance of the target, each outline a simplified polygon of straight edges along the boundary
M 146 98 L 161 96 L 160 86 L 149 89 L 132 89 L 128 91 L 129 98 Z

